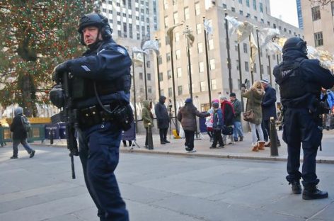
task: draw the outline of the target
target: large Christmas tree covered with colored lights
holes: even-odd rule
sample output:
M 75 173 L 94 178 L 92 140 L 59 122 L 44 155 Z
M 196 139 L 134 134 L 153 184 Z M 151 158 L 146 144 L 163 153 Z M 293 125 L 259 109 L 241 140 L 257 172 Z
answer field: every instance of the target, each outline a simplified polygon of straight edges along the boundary
M 49 103 L 52 70 L 78 57 L 76 27 L 93 1 L 0 1 L 0 96 L 1 106 L 12 103 L 35 115 L 36 103 Z

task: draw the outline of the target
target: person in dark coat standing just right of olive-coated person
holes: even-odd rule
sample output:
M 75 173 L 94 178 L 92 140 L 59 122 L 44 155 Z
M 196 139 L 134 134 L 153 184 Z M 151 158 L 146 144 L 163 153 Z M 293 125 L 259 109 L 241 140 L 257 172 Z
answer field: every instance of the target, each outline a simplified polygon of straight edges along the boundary
M 159 103 L 156 103 L 156 106 L 154 106 L 154 111 L 156 113 L 156 121 L 158 122 L 161 145 L 170 143 L 167 140 L 167 131 L 170 123 L 170 118 L 168 115 L 167 108 L 165 106 L 165 102 L 166 102 L 166 96 L 160 96 Z

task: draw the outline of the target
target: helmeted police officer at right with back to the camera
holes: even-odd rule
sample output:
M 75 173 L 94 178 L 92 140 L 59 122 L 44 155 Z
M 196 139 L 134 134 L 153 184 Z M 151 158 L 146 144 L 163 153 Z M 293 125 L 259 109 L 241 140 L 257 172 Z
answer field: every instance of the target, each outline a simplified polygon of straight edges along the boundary
M 275 81 L 280 85 L 284 107 L 283 140 L 287 143 L 287 181 L 294 194 L 301 193 L 302 178 L 304 200 L 328 198 L 326 191 L 317 188 L 316 154 L 321 145 L 321 87 L 330 89 L 334 76 L 321 67 L 318 60 L 308 59 L 306 42 L 289 38 L 283 46 L 283 61 L 274 68 Z M 299 172 L 301 143 L 304 152 L 302 172 Z

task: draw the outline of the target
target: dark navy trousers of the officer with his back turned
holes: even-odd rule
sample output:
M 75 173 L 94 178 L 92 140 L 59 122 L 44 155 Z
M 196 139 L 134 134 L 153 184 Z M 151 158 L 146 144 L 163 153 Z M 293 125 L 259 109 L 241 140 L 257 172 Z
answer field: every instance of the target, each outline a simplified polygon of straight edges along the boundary
M 321 144 L 321 130 L 308 108 L 287 108 L 284 112 L 283 140 L 287 143 L 287 181 L 299 181 L 303 186 L 318 184 L 316 154 Z M 301 144 L 304 152 L 302 173 L 299 172 Z

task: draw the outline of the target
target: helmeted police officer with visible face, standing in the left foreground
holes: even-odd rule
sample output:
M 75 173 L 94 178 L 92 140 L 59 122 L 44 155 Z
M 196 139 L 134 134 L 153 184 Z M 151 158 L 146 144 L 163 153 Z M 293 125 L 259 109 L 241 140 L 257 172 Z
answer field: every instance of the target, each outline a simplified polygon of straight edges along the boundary
M 79 156 L 98 217 L 129 220 L 114 174 L 124 128 L 113 113 L 129 107 L 132 61 L 127 50 L 111 38 L 105 16 L 86 14 L 80 19 L 78 32 L 88 50 L 82 57 L 58 64 L 53 77 L 59 82 L 64 72 L 71 73 L 71 96 L 78 110 Z

